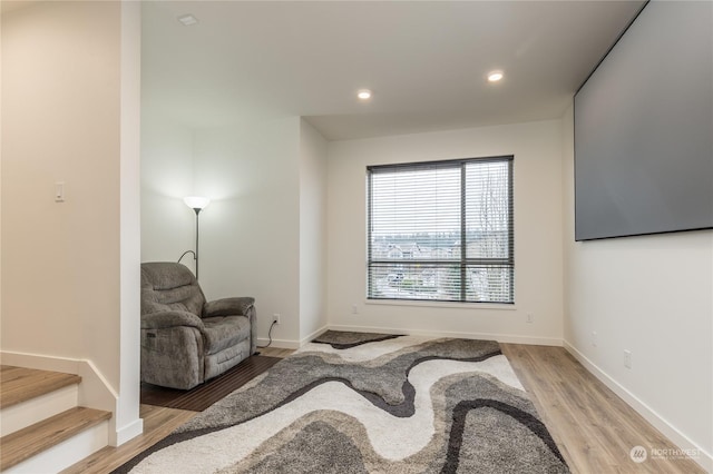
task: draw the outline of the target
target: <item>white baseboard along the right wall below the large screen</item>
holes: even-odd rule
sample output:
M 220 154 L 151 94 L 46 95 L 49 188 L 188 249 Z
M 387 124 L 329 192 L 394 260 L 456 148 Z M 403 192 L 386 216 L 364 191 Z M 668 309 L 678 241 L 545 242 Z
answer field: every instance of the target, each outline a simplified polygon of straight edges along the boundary
M 713 472 L 713 455 L 711 453 L 706 452 L 701 446 L 692 442 L 686 435 L 684 435 L 678 429 L 676 429 L 675 426 L 673 426 L 671 423 L 664 419 L 661 415 L 658 415 L 658 413 L 656 413 L 648 405 L 646 405 L 638 397 L 636 397 L 636 395 L 631 393 L 628 389 L 622 386 L 618 382 L 612 378 L 606 372 L 604 372 L 596 364 L 589 361 L 589 358 L 587 358 L 584 354 L 577 350 L 567 340 L 563 340 L 563 346 L 582 365 L 584 365 L 585 368 L 589 371 L 589 373 L 592 373 L 595 377 L 597 377 L 612 392 L 618 395 L 628 406 L 634 408 L 636 413 L 642 415 L 648 423 L 651 423 L 664 436 L 671 440 L 672 443 L 674 443 L 684 452 L 699 453 L 697 456 L 692 456 L 691 458 L 696 463 L 699 463 L 701 467 L 703 467 L 707 472 Z

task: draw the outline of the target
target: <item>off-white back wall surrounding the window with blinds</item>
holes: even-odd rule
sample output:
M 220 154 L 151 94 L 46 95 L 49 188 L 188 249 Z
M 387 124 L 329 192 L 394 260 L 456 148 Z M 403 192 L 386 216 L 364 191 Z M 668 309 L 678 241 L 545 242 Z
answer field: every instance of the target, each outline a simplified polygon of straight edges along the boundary
M 330 325 L 429 332 L 558 345 L 563 328 L 559 120 L 329 144 Z M 514 155 L 515 307 L 367 304 L 365 168 L 369 165 Z M 352 314 L 356 305 L 358 314 Z M 531 313 L 535 322 L 526 323 Z

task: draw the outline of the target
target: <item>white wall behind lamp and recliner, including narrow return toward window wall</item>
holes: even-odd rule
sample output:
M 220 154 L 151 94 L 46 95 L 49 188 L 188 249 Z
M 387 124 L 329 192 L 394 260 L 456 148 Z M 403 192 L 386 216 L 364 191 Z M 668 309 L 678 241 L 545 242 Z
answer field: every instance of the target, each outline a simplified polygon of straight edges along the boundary
M 141 261 L 195 247 L 206 297 L 253 296 L 260 344 L 299 347 L 326 325 L 326 141 L 299 117 L 192 130 L 145 110 Z M 183 260 L 189 268 L 193 260 Z

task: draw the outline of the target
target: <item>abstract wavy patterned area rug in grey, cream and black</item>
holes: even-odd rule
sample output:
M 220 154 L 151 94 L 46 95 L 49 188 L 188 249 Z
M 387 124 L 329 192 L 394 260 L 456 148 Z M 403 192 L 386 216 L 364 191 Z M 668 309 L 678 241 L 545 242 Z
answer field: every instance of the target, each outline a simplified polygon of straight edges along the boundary
M 568 473 L 496 342 L 328 332 L 115 473 Z

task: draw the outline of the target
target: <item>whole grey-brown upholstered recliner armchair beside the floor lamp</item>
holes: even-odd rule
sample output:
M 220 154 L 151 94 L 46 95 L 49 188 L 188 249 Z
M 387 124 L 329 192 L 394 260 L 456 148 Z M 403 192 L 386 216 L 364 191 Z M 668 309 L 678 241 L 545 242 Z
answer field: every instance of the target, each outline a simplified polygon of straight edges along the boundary
M 188 389 L 255 353 L 255 299 L 206 302 L 183 264 L 141 264 L 141 382 Z

